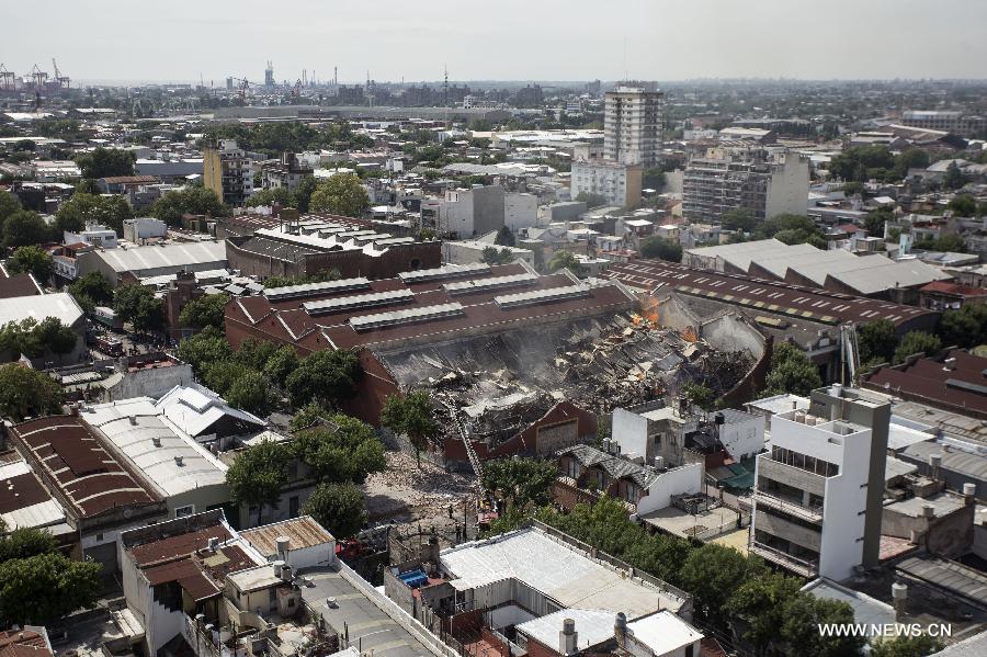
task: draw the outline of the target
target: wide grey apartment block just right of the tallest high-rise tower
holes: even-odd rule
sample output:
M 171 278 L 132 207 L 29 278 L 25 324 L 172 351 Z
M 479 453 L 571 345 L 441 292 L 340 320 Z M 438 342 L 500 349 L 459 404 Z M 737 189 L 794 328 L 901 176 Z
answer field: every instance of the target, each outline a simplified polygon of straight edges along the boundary
M 719 222 L 734 209 L 749 211 L 758 219 L 804 215 L 808 182 L 808 158 L 795 152 L 711 148 L 685 169 L 682 214 L 693 222 Z

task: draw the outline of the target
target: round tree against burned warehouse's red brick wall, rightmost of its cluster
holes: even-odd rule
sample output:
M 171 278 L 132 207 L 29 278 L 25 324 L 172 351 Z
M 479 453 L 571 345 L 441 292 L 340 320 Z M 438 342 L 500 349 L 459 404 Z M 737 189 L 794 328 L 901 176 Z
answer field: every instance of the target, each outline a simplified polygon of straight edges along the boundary
M 298 367 L 285 380 L 285 388 L 294 408 L 309 401 L 330 406 L 351 397 L 362 375 L 356 354 L 342 349 L 327 349 L 302 359 Z

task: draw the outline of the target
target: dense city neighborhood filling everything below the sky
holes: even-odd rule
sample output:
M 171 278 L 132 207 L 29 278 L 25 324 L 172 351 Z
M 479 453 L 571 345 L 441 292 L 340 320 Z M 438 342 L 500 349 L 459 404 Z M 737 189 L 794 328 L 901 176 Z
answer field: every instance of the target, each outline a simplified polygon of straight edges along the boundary
M 3 48 L 0 657 L 987 655 L 987 81 L 268 46 Z

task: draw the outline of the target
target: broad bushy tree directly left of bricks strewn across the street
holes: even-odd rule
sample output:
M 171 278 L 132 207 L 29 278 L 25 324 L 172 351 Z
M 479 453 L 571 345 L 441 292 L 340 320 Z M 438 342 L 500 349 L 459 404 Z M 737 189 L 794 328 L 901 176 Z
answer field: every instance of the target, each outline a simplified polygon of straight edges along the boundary
M 386 466 L 384 444 L 373 427 L 342 414 L 329 417 L 325 426 L 300 431 L 295 439 L 295 453 L 319 482 L 362 484 L 368 474 Z

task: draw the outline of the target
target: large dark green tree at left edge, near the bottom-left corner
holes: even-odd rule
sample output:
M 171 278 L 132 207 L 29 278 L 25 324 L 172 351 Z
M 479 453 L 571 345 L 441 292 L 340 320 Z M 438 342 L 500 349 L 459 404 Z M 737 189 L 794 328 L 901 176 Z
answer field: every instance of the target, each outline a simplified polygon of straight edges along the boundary
M 73 562 L 58 552 L 0 564 L 0 618 L 45 624 L 82 607 L 100 592 L 101 566 Z

